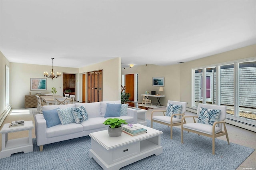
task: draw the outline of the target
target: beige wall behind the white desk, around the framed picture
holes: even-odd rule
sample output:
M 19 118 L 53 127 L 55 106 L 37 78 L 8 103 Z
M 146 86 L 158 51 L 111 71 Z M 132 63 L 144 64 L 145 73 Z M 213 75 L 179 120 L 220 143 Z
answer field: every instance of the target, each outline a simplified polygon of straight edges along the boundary
M 156 91 L 157 94 L 165 95 L 160 99 L 161 105 L 166 105 L 168 100 L 180 101 L 180 64 L 171 66 L 159 66 L 148 64 L 122 69 L 122 75 L 138 74 L 138 102 L 142 103 L 141 94 L 146 91 Z M 159 91 L 158 86 L 153 86 L 153 77 L 164 77 L 164 91 Z M 157 99 L 150 98 L 152 103 Z

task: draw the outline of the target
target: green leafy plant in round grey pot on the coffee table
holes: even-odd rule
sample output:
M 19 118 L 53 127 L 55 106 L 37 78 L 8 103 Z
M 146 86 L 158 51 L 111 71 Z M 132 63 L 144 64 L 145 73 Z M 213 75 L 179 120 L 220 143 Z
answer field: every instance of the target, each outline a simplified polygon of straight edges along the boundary
M 121 136 L 121 134 L 122 134 L 121 125 L 128 124 L 128 123 L 126 123 L 126 120 L 124 120 L 124 119 L 109 118 L 103 124 L 110 125 L 108 127 L 108 135 L 110 137 L 117 137 L 117 136 Z

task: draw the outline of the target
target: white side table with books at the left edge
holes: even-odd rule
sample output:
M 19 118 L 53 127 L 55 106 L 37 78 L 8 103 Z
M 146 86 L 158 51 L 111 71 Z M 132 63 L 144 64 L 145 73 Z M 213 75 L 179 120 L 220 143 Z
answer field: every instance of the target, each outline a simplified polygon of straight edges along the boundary
M 0 133 L 2 133 L 2 150 L 0 151 L 0 158 L 10 157 L 11 154 L 18 152 L 33 152 L 32 143 L 32 128 L 34 128 L 32 121 L 24 121 L 23 126 L 9 127 L 10 123 L 4 124 Z M 28 130 L 28 137 L 8 140 L 8 133 Z

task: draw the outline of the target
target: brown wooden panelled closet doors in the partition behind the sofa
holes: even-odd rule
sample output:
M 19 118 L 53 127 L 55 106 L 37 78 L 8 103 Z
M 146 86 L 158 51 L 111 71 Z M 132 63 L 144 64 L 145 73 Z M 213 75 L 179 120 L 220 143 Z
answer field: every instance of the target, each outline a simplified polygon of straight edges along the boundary
M 87 72 L 87 102 L 102 101 L 102 76 L 103 71 Z

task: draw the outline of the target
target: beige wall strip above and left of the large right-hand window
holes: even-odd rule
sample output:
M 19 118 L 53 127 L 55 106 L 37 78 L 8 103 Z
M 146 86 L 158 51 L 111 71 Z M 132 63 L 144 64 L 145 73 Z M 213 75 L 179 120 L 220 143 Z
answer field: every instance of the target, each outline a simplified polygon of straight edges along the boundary
M 188 102 L 187 107 L 191 107 L 191 70 L 196 67 L 205 67 L 218 63 L 225 63 L 228 61 L 235 61 L 250 57 L 256 57 L 256 45 L 250 45 L 232 51 L 204 57 L 202 59 L 193 60 L 190 62 L 182 63 L 180 65 L 180 101 Z M 172 66 L 170 66 L 172 67 Z

